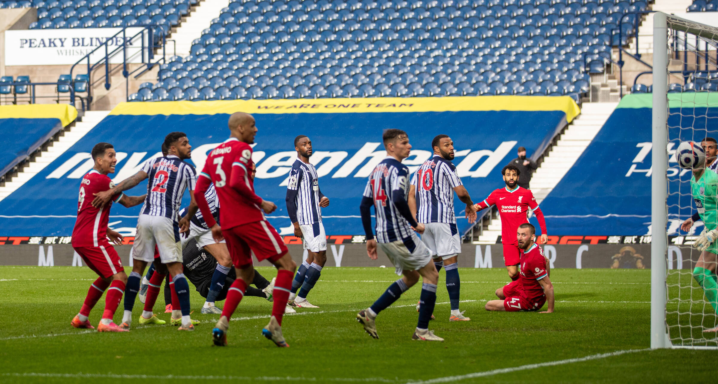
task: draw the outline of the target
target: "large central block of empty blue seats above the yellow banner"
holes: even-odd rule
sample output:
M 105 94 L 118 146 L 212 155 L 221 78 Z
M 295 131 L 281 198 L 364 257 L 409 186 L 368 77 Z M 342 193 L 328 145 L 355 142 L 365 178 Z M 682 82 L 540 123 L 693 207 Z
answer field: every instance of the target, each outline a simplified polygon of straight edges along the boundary
M 570 95 L 645 1 L 231 1 L 131 101 Z M 623 20 L 624 43 L 633 17 Z M 172 79 L 177 84 L 169 86 Z M 208 88 L 205 90 L 205 88 Z M 144 90 L 149 90 L 149 92 Z M 213 91 L 213 92 L 210 92 Z

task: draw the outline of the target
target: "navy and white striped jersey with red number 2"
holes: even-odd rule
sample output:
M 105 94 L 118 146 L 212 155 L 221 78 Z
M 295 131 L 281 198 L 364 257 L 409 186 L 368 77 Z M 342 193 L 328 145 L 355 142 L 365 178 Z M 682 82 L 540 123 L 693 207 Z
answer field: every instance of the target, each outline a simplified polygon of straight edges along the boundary
M 147 173 L 149 183 L 141 214 L 164 216 L 177 221 L 182 195 L 187 188 L 195 190 L 195 168 L 175 155 L 167 155 L 147 160 L 142 171 Z

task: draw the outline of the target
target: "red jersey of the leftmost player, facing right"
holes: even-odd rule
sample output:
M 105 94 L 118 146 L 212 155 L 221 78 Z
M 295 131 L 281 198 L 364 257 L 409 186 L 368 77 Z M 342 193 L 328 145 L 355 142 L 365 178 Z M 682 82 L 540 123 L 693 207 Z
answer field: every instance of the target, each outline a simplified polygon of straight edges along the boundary
M 78 198 L 78 219 L 73 229 L 73 246 L 108 246 L 107 223 L 110 219 L 110 207 L 112 202 L 118 202 L 122 193 L 112 196 L 101 208 L 92 206 L 95 198 L 93 193 L 107 191 L 115 186 L 107 175 L 103 175 L 94 169 L 90 171 L 83 181 L 80 182 L 80 197 Z

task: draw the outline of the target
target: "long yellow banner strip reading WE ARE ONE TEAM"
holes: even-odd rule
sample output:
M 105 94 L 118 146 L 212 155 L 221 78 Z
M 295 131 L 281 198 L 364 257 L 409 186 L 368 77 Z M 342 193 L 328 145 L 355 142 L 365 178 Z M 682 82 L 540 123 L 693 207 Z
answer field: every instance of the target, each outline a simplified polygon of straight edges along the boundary
M 570 123 L 581 111 L 568 96 L 372 97 L 350 99 L 121 102 L 110 115 L 366 113 L 560 110 Z

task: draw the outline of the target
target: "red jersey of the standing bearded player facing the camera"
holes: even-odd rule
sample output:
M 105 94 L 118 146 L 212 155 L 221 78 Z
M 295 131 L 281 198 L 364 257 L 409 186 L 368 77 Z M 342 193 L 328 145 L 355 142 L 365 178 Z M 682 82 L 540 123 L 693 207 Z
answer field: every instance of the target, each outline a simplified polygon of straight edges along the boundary
M 536 210 L 538 204 L 533 193 L 526 188 L 516 187 L 509 191 L 508 187 L 495 189 L 486 200 L 480 203 L 482 208 L 495 205 L 501 217 L 501 242 L 518 244 L 516 230 L 523 223 L 528 223 L 528 208 Z

